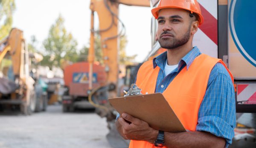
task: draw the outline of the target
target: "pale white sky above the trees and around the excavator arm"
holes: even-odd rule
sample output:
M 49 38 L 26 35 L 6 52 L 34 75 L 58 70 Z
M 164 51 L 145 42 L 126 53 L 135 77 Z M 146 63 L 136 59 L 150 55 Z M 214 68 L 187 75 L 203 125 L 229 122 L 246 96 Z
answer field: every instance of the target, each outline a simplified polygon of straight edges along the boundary
M 13 27 L 23 31 L 27 43 L 35 35 L 38 48 L 43 48 L 42 41 L 61 14 L 64 26 L 77 40 L 78 48 L 89 47 L 90 0 L 15 0 L 15 3 Z M 126 28 L 126 53 L 137 54 L 136 62 L 142 62 L 151 50 L 151 8 L 119 5 L 119 17 Z M 95 26 L 97 23 L 95 21 Z

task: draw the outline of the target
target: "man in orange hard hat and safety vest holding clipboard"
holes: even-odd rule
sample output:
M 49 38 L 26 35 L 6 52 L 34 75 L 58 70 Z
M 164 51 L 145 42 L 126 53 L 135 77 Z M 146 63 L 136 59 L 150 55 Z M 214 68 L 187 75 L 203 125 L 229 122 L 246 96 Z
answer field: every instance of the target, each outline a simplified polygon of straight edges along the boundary
M 236 124 L 233 76 L 220 60 L 192 46 L 204 22 L 196 0 L 161 0 L 151 10 L 157 37 L 167 51 L 143 63 L 136 84 L 143 94 L 160 92 L 187 132 L 170 133 L 123 113 L 116 127 L 129 148 L 224 148 Z

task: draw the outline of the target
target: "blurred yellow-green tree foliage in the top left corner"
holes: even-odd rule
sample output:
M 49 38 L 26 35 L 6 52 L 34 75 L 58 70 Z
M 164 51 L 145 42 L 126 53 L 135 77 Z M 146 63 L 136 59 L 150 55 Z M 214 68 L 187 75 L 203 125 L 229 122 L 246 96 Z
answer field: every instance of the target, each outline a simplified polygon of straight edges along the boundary
M 0 40 L 7 37 L 12 29 L 12 14 L 15 0 L 0 0 Z

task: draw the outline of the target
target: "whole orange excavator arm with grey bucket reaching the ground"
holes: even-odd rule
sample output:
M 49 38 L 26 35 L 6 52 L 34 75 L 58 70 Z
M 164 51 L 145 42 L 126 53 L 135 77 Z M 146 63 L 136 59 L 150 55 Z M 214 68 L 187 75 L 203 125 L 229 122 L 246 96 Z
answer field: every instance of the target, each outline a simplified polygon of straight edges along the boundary
M 119 4 L 128 6 L 150 7 L 150 0 L 91 0 L 91 34 L 90 48 L 88 54 L 89 62 L 89 101 L 96 107 L 96 113 L 106 117 L 110 129 L 107 139 L 114 148 L 128 147 L 129 141 L 122 139 L 114 125 L 116 111 L 111 107 L 108 98 L 117 97 L 120 92 L 118 87 L 118 48 L 119 39 L 125 34 L 125 26 L 119 18 Z M 99 30 L 94 28 L 94 15 L 99 18 Z M 119 28 L 120 26 L 120 28 Z M 107 74 L 105 84 L 93 88 L 93 63 L 94 35 L 99 34 L 103 50 L 105 73 Z

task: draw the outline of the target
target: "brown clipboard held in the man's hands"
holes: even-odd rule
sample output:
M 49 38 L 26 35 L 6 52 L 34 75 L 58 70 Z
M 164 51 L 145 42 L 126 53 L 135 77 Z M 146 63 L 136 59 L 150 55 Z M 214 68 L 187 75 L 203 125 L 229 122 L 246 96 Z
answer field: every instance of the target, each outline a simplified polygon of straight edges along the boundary
M 186 131 L 161 93 L 108 99 L 113 108 L 148 123 L 151 128 L 172 133 Z

